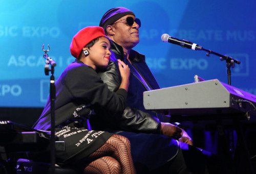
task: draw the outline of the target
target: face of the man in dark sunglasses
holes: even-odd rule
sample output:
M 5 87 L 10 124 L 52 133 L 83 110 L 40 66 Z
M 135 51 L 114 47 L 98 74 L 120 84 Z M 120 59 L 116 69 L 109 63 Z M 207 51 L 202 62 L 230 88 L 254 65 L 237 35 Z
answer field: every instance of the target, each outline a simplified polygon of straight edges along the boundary
M 113 40 L 126 49 L 131 49 L 139 43 L 139 26 L 134 21 L 132 26 L 129 26 L 126 22 L 127 17 L 133 17 L 134 15 L 126 15 L 112 24 L 114 27 L 115 35 L 113 36 Z

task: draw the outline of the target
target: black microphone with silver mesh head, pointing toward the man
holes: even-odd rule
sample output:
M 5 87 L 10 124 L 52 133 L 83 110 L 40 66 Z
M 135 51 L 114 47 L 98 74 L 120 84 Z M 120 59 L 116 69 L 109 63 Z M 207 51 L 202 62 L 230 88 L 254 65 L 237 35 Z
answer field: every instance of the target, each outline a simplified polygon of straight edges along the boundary
M 194 49 L 194 50 L 202 50 L 202 46 L 199 46 L 198 44 L 196 43 L 192 43 L 190 41 L 187 41 L 187 40 L 180 40 L 180 39 L 177 39 L 175 37 L 171 37 L 169 36 L 168 34 L 163 34 L 161 36 L 161 39 L 163 42 L 169 42 L 169 43 L 173 43 L 173 44 L 176 44 L 176 45 L 180 45 L 184 48 L 188 48 L 188 49 Z

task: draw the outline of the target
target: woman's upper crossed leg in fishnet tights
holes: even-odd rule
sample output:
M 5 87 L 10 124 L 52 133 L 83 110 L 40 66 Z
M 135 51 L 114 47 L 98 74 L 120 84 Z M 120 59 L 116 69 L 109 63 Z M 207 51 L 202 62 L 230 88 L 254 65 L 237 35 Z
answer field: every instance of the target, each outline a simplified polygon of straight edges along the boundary
M 121 165 L 123 174 L 136 173 L 132 155 L 130 141 L 121 135 L 112 135 L 101 147 L 93 152 L 88 159 L 95 160 L 103 156 L 111 156 Z

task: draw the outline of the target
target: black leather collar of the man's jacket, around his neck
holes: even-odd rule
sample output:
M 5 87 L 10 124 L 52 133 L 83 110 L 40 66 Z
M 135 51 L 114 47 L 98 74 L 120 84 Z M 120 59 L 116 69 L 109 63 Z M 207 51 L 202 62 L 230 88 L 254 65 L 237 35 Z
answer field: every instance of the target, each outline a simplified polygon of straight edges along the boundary
M 110 49 L 112 52 L 114 52 L 115 54 L 121 55 L 121 57 L 123 58 L 124 54 L 123 54 L 122 46 L 120 46 L 116 42 L 112 41 Z M 133 49 L 131 49 L 130 60 L 133 62 L 145 62 L 145 55 L 142 55 L 139 52 L 136 52 Z

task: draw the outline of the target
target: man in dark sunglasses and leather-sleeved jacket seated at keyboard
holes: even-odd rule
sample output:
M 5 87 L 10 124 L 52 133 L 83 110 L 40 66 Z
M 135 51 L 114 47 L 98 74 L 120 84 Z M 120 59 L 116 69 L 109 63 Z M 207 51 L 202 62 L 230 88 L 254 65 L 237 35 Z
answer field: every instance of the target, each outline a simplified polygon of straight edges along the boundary
M 109 66 L 98 72 L 101 79 L 110 90 L 119 88 L 121 76 L 117 59 L 129 65 L 131 76 L 123 114 L 97 111 L 97 116 L 90 118 L 92 129 L 108 130 L 129 138 L 137 173 L 205 173 L 205 157 L 198 148 L 188 145 L 193 142 L 186 132 L 159 121 L 160 114 L 144 109 L 143 92 L 160 87 L 145 63 L 145 56 L 132 49 L 139 43 L 140 20 L 129 9 L 118 7 L 107 11 L 99 26 L 112 40 Z M 194 156 L 186 157 L 189 164 L 183 157 L 187 156 L 184 149 L 189 149 Z

